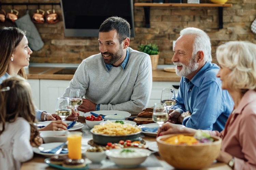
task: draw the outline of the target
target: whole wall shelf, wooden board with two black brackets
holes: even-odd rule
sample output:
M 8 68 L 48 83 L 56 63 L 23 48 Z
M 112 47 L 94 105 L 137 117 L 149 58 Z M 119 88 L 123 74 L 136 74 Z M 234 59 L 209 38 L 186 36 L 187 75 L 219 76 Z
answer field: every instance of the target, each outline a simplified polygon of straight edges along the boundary
M 134 3 L 134 6 L 143 6 L 146 28 L 150 28 L 150 7 L 168 7 L 168 6 L 197 6 L 197 7 L 218 7 L 219 29 L 223 28 L 223 7 L 231 7 L 231 3 L 216 4 L 216 3 Z

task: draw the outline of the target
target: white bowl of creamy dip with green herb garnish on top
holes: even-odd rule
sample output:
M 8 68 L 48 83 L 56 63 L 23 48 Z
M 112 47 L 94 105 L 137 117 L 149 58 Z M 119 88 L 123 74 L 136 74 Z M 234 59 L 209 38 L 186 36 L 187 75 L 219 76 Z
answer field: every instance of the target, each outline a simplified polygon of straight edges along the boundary
M 128 153 L 121 153 L 124 149 L 133 150 L 134 152 Z M 124 148 L 124 149 L 111 149 L 107 150 L 106 155 L 112 160 L 116 165 L 121 166 L 137 166 L 143 163 L 148 156 L 151 155 L 151 151 L 147 149 L 140 149 L 140 148 Z

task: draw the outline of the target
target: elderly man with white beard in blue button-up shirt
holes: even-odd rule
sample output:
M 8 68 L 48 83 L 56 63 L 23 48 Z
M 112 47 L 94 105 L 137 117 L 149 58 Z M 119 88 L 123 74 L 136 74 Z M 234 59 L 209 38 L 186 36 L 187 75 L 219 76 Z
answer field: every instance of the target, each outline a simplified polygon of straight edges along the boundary
M 170 109 L 171 123 L 188 128 L 222 131 L 233 109 L 233 101 L 216 74 L 219 67 L 211 63 L 209 36 L 197 28 L 186 28 L 174 46 L 172 62 L 182 76 L 176 104 Z

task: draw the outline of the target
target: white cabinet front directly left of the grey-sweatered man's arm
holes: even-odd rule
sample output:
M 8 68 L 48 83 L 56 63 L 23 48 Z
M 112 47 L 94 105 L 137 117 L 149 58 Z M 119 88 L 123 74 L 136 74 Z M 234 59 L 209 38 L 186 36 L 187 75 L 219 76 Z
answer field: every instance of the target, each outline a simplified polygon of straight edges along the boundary
M 69 80 L 40 80 L 40 109 L 55 113 L 55 104 L 69 86 Z

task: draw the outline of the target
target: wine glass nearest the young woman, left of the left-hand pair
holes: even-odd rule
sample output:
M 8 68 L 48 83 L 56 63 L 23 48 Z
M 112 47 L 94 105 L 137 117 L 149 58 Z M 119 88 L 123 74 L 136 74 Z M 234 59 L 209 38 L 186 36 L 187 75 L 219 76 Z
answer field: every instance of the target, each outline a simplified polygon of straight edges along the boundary
M 59 97 L 55 107 L 56 114 L 65 121 L 66 118 L 72 114 L 71 106 L 68 97 Z

